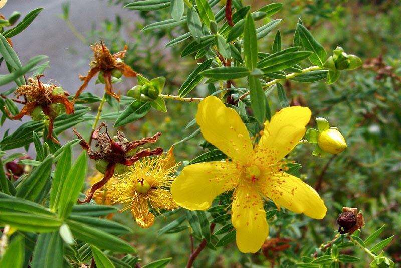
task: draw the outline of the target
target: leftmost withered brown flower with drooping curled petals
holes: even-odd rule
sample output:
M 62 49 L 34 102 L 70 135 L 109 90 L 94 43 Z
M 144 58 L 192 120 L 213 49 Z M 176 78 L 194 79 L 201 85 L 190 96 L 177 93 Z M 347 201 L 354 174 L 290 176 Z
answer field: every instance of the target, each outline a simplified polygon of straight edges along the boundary
M 43 75 L 36 76 L 36 79 L 29 78 L 28 85 L 22 85 L 17 88 L 13 99 L 15 102 L 25 104 L 22 110 L 17 115 L 12 115 L 6 108 L 7 115 L 12 120 L 19 120 L 24 115 L 30 115 L 33 120 L 42 119 L 42 111 L 49 117 L 48 139 L 59 143 L 53 136 L 54 119 L 61 112 L 61 105 L 65 107 L 67 114 L 74 112 L 74 105 L 67 99 L 68 93 L 62 87 L 54 84 L 43 84 L 39 79 Z M 19 97 L 24 97 L 24 101 L 19 101 Z M 61 105 L 60 105 L 61 104 Z

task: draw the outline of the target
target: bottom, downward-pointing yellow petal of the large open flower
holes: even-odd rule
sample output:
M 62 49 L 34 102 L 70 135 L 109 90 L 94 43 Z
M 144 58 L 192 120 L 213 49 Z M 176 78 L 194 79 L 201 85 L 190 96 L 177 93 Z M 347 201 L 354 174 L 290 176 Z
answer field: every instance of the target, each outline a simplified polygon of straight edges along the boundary
M 234 193 L 232 211 L 238 249 L 243 253 L 257 252 L 269 235 L 261 196 L 254 188 L 239 185 Z

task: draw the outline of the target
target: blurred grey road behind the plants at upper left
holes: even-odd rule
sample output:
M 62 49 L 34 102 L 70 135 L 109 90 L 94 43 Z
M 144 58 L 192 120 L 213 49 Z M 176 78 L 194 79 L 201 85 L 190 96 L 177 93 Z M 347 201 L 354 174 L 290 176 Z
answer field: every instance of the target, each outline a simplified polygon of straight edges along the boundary
M 35 8 L 45 8 L 27 29 L 12 38 L 14 49 L 23 65 L 35 55 L 49 56 L 51 68 L 45 71 L 46 77 L 43 80 L 54 79 L 66 91 L 73 93 L 80 86 L 78 74 L 84 75 L 88 71 L 91 51 L 58 17 L 62 13 L 63 2 L 65 0 L 9 0 L 0 13 L 8 17 L 13 11 L 19 11 L 23 17 Z M 106 0 L 71 0 L 70 3 L 70 19 L 84 35 L 90 31 L 92 23 L 98 24 L 107 18 L 114 20 L 116 14 L 125 19 L 134 19 L 135 16 L 132 12 L 124 11 L 121 6 L 108 5 Z M 7 73 L 4 64 L 0 73 Z M 6 89 L 9 87 L 0 87 L 0 92 Z M 23 118 L 23 121 L 28 119 Z M 6 120 L 0 129 L 0 137 L 8 128 L 13 131 L 20 124 L 20 121 Z

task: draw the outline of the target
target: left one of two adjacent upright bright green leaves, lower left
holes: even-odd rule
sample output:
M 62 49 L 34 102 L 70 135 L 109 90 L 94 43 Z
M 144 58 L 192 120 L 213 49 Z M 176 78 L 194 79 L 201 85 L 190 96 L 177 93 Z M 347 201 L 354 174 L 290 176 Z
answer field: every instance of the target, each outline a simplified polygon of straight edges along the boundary
M 56 172 L 53 176 L 52 188 L 50 189 L 50 210 L 56 211 L 59 207 L 61 194 L 68 172 L 72 166 L 72 151 L 71 146 L 64 148 L 60 154 L 60 159 L 56 165 Z

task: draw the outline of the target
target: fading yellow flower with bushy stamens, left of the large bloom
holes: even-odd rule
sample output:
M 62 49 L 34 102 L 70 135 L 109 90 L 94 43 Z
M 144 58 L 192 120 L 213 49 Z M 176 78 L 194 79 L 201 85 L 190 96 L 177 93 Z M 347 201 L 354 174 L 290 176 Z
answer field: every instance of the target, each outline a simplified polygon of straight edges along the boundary
M 140 227 L 152 226 L 154 212 L 178 207 L 169 190 L 178 165 L 172 150 L 135 162 L 128 172 L 116 176 L 119 180 L 109 190 L 113 202 L 124 205 L 122 211 L 130 209 Z

